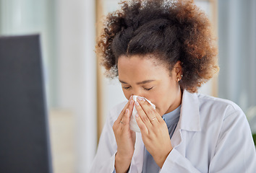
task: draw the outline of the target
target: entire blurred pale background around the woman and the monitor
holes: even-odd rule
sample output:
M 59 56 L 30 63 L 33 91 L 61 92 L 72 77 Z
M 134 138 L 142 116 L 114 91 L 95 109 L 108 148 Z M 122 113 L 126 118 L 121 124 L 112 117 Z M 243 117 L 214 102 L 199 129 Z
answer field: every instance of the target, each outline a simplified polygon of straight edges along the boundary
M 118 0 L 0 0 L 0 35 L 40 33 L 54 172 L 88 172 L 108 110 L 125 100 L 97 65 L 95 38 Z M 256 1 L 197 0 L 218 34 L 220 74 L 200 89 L 231 99 L 256 133 Z

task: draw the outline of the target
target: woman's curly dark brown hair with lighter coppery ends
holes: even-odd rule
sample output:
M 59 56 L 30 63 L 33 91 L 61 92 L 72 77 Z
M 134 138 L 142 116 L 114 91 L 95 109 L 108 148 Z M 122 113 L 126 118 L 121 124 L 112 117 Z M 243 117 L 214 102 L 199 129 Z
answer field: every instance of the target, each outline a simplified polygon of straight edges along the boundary
M 120 56 L 153 54 L 172 70 L 182 64 L 179 85 L 189 92 L 218 72 L 218 49 L 208 17 L 188 0 L 122 1 L 108 14 L 96 45 L 106 76 L 118 76 Z

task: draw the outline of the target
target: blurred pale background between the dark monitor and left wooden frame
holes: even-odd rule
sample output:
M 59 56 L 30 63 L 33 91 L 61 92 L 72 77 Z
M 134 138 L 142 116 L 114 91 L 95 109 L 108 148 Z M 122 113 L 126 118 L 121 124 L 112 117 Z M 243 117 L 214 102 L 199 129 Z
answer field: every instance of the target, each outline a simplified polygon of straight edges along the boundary
M 41 38 L 54 172 L 88 172 L 97 147 L 95 1 L 0 1 L 0 35 L 34 33 Z

